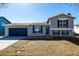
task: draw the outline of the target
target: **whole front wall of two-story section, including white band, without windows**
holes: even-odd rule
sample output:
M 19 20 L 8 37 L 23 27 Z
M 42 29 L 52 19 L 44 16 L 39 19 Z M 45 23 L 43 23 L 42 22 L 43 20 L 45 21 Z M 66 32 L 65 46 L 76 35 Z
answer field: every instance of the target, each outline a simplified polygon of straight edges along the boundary
M 68 28 L 58 28 L 57 26 L 57 20 L 68 20 Z M 57 17 L 53 17 L 49 20 L 50 23 L 50 36 L 54 36 L 53 35 L 53 30 L 68 30 L 69 31 L 69 35 L 68 36 L 73 36 L 74 35 L 74 20 L 72 18 L 69 18 L 65 15 L 60 15 Z M 62 36 L 62 34 L 60 34 L 59 36 Z

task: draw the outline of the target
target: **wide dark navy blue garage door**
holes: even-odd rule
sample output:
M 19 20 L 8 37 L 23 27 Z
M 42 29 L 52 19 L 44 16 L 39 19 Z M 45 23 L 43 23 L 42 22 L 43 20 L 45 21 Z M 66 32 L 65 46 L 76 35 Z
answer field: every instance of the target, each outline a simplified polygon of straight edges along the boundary
M 27 28 L 9 28 L 9 36 L 27 36 Z

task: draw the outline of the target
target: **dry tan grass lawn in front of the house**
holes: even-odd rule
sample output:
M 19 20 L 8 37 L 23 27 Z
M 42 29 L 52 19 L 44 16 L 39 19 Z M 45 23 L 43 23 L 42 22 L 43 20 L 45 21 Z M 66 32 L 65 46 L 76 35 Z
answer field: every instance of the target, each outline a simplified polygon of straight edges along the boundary
M 78 43 L 78 42 L 77 42 Z M 20 40 L 0 51 L 4 56 L 79 55 L 79 46 L 67 40 Z

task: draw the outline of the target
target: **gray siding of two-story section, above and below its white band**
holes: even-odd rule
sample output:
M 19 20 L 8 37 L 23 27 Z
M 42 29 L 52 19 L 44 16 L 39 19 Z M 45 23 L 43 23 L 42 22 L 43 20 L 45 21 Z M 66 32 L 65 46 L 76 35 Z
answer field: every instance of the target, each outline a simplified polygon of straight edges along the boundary
M 70 17 L 67 17 L 67 16 L 65 16 L 65 15 L 61 15 L 61 16 L 57 16 L 57 17 L 53 17 L 53 18 L 50 18 L 50 20 L 49 20 L 49 23 L 50 23 L 50 28 L 56 28 L 56 29 L 58 29 L 58 25 L 57 25 L 57 20 L 59 20 L 58 18 L 67 18 L 67 20 L 68 20 L 68 28 L 71 28 L 72 30 L 68 30 L 68 32 L 69 32 L 69 37 L 72 37 L 73 35 L 74 35 L 74 20 L 72 19 L 72 18 L 70 18 Z M 59 36 L 62 36 L 62 37 L 64 37 L 63 35 L 62 35 L 62 30 L 63 30 L 63 28 L 61 29 L 61 30 L 59 30 L 60 31 L 60 35 Z M 53 35 L 53 30 L 50 30 L 50 36 L 54 36 Z

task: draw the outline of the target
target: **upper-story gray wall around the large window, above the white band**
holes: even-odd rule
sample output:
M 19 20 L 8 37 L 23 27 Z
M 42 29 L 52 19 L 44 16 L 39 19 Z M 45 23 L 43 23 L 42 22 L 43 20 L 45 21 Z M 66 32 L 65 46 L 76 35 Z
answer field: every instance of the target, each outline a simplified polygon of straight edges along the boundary
M 61 19 L 63 20 L 64 17 L 65 16 L 63 16 L 63 17 L 61 16 Z M 57 20 L 59 20 L 59 18 L 60 17 L 54 17 L 54 18 L 50 19 L 50 21 L 49 21 L 49 22 L 51 22 L 50 28 L 58 28 L 57 27 Z M 72 18 L 68 18 L 68 17 L 66 17 L 65 19 L 68 20 L 68 28 L 73 28 L 74 20 Z

